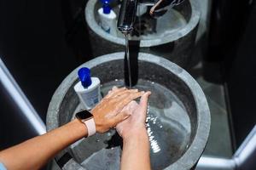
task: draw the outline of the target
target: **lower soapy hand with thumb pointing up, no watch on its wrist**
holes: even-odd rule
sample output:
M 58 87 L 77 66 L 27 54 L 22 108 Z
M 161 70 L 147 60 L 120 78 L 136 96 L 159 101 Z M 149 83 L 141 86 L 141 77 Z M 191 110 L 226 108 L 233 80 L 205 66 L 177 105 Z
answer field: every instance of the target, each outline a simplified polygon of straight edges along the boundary
M 117 132 L 123 139 L 129 138 L 131 135 L 137 135 L 139 133 L 147 133 L 145 122 L 148 111 L 148 96 L 151 92 L 143 94 L 140 103 L 131 101 L 129 105 L 126 105 L 121 112 L 130 112 L 131 116 L 125 121 L 119 122 L 116 126 Z

